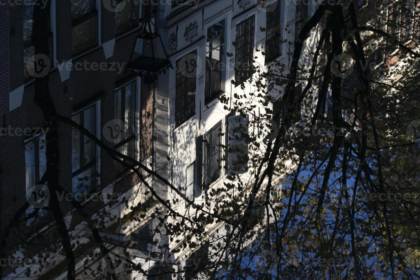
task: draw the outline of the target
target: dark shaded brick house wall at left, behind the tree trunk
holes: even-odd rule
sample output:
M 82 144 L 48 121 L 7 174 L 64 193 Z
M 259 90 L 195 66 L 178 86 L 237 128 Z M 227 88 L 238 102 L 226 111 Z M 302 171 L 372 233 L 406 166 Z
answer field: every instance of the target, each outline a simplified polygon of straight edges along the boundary
M 91 12 L 78 18 L 79 22 L 74 21 L 73 17 L 77 13 L 73 13 L 72 3 L 78 1 L 52 1 L 50 13 L 50 40 L 51 49 L 50 56 L 51 70 L 49 73 L 49 90 L 53 99 L 58 115 L 66 118 L 75 118 L 75 114 L 79 115 L 84 112 L 84 118 L 87 107 L 95 107 L 94 123 L 95 135 L 108 147 L 112 149 L 121 149 L 116 147 L 116 143 L 107 141 L 102 128 L 111 120 L 118 119 L 116 117 L 116 94 L 119 90 L 130 92 L 130 100 L 134 103 L 130 105 L 120 104 L 123 108 L 130 107 L 128 114 L 134 116 L 132 120 L 132 152 L 131 156 L 139 162 L 148 162 L 152 159 L 152 130 L 153 130 L 153 84 L 145 83 L 138 74 L 126 71 L 125 65 L 129 63 L 131 52 L 134 47 L 135 37 L 140 31 L 139 15 L 141 8 L 138 5 L 132 6 L 132 15 L 129 24 L 123 25 L 118 29 L 116 25 L 116 13 L 104 6 L 104 1 L 92 1 L 93 6 Z M 23 3 L 23 4 L 22 4 Z M 44 117 L 42 111 L 34 102 L 35 83 L 34 78 L 26 76 L 28 65 L 25 63 L 26 50 L 30 44 L 30 35 L 28 37 L 25 32 L 28 30 L 27 22 L 25 22 L 26 13 L 30 2 L 23 1 L 20 5 L 0 5 L 0 113 L 2 126 L 12 128 L 13 135 L 0 137 L 0 170 L 2 170 L 0 182 L 3 195 L 1 196 L 1 211 L 3 217 L 12 217 L 16 211 L 25 204 L 28 191 L 28 143 L 35 139 L 33 137 L 39 128 L 45 128 Z M 137 2 L 136 2 L 137 3 Z M 41 3 L 38 3 L 42 5 Z M 33 16 L 30 9 L 29 15 Z M 79 11 L 85 13 L 85 11 Z M 92 33 L 96 36 L 96 42 L 86 50 L 82 50 L 73 55 L 72 39 L 74 40 L 74 31 L 77 30 L 78 24 L 83 24 L 84 18 L 92 16 L 93 24 Z M 24 18 L 24 20 L 22 20 Z M 88 19 L 89 20 L 89 19 Z M 84 27 L 85 28 L 85 27 Z M 86 29 L 86 28 L 85 28 Z M 96 29 L 96 30 L 95 30 Z M 73 32 L 73 35 L 72 35 Z M 81 31 L 81 32 L 85 32 Z M 25 36 L 26 41 L 25 43 Z M 73 38 L 72 38 L 73 36 Z M 24 40 L 22 40 L 24 38 Z M 28 39 L 29 38 L 29 39 Z M 84 43 L 82 43 L 84 44 Z M 30 47 L 29 47 L 30 48 Z M 30 57 L 30 55 L 28 56 Z M 9 63 L 10 61 L 10 63 Z M 35 62 L 37 59 L 35 58 Z M 76 65 L 79 63 L 79 66 Z M 100 65 L 105 63 L 108 67 L 104 69 L 92 65 Z M 86 65 L 86 66 L 85 66 Z M 125 89 L 127 85 L 134 88 Z M 126 93 L 125 93 L 126 94 Z M 9 100 L 9 95 L 11 99 Z M 127 96 L 129 96 L 127 95 Z M 124 97 L 125 98 L 125 97 Z M 128 97 L 127 97 L 128 98 Z M 124 107 L 125 106 L 125 107 Z M 119 108 L 119 110 L 124 110 Z M 128 122 L 128 121 L 127 121 Z M 22 135 L 14 129 L 30 128 L 31 135 Z M 60 186 L 70 193 L 75 193 L 75 182 L 77 175 L 74 172 L 72 163 L 72 150 L 74 153 L 74 136 L 72 128 L 68 125 L 58 122 L 59 130 L 59 178 Z M 79 136 L 80 137 L 80 136 Z M 38 142 L 37 142 L 38 141 Z M 123 140 L 125 141 L 125 140 Z M 41 143 L 36 140 L 35 143 Z M 9 146 L 10 143 L 10 146 Z M 83 144 L 81 144 L 83 145 Z M 86 141 L 84 143 L 86 144 Z M 96 146 L 96 145 L 94 145 Z M 124 145 L 123 145 L 124 146 Z M 129 145 L 127 145 L 129 147 Z M 131 147 L 131 146 L 130 146 Z M 40 169 L 39 162 L 41 148 L 35 148 L 36 160 L 33 162 L 35 170 Z M 83 149 L 79 145 L 79 151 Z M 90 149 L 90 148 L 89 148 Z M 117 170 L 115 162 L 108 156 L 106 152 L 99 149 L 95 150 L 94 163 L 95 172 L 99 172 L 99 182 L 92 191 L 100 191 L 100 189 L 113 184 L 115 193 L 123 193 L 132 188 L 139 179 L 134 173 L 123 172 Z M 127 148 L 130 149 L 130 148 Z M 130 152 L 127 152 L 130 154 Z M 83 156 L 83 155 L 82 155 Z M 79 156 L 79 157 L 82 157 Z M 92 156 L 92 155 L 91 155 Z M 80 159 L 79 159 L 80 160 Z M 79 165 L 84 165 L 84 160 Z M 82 168 L 79 168 L 82 169 Z M 84 174 L 82 170 L 80 174 Z M 41 175 L 35 176 L 37 180 Z M 93 176 L 92 176 L 93 177 Z M 12 180 L 13 178 L 13 180 Z M 76 178 L 76 179 L 75 179 Z M 25 187 L 26 186 L 26 187 Z M 104 206 L 103 201 L 89 202 L 86 207 L 99 209 Z M 67 213 L 73 207 L 69 202 L 61 201 L 60 207 L 63 213 Z M 69 228 L 78 225 L 82 221 L 81 215 L 75 213 L 69 220 Z M 10 219 L 1 221 L 2 228 L 10 222 Z M 33 225 L 32 230 L 39 226 L 45 226 L 45 222 L 39 225 Z M 17 244 L 9 244 L 16 246 Z M 6 272 L 10 272 L 14 267 L 7 267 Z

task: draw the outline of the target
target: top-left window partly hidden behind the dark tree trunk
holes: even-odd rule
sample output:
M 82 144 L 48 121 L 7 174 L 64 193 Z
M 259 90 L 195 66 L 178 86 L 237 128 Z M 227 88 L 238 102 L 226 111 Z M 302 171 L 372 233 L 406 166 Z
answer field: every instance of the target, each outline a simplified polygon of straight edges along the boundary
M 35 55 L 34 44 L 32 43 L 32 24 L 34 23 L 34 2 L 35 0 L 28 0 L 23 5 L 24 16 L 23 16 L 23 33 L 24 33 L 24 65 L 28 63 L 28 60 Z M 53 33 L 51 32 L 51 24 L 48 25 L 48 46 L 50 49 L 50 61 L 53 61 Z M 30 79 L 26 67 L 24 67 L 24 79 Z

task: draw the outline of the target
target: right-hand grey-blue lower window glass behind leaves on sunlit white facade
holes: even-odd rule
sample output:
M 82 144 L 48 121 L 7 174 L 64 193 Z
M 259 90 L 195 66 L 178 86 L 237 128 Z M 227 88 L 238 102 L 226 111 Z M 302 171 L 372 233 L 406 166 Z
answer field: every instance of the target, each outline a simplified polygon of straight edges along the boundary
M 248 167 L 248 118 L 228 117 L 228 175 L 245 172 Z

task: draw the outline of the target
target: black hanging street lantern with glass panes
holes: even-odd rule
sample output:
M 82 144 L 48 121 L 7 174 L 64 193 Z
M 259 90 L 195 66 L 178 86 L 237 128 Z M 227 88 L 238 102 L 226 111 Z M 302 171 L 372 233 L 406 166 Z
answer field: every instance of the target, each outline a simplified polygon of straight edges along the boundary
M 143 33 L 136 37 L 130 62 L 126 67 L 130 71 L 139 73 L 140 76 L 155 76 L 169 67 L 173 68 L 160 34 L 151 31 L 152 25 L 150 18 L 144 19 L 141 28 Z

